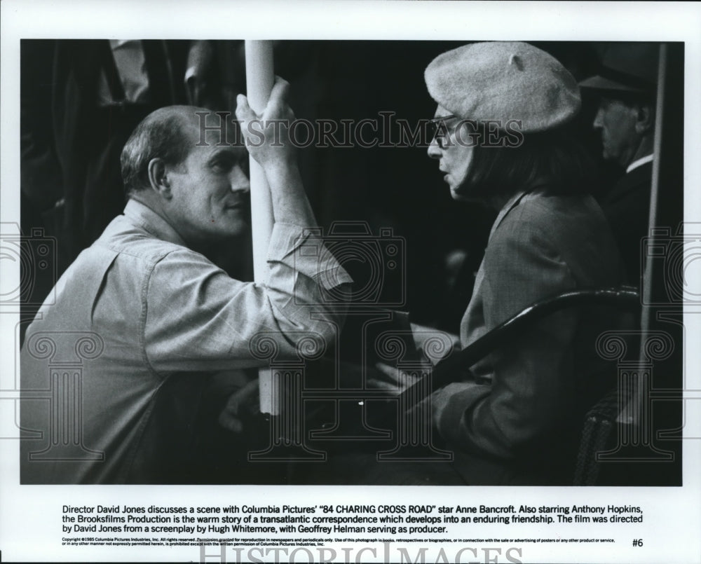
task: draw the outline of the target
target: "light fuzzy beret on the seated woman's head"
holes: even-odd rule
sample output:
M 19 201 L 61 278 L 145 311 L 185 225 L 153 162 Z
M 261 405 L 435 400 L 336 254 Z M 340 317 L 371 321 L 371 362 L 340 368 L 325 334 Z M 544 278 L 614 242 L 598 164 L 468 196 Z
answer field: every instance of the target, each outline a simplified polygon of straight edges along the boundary
M 557 127 L 581 106 L 574 77 L 528 43 L 471 43 L 438 55 L 424 73 L 428 92 L 445 109 L 475 121 L 520 120 L 521 131 Z

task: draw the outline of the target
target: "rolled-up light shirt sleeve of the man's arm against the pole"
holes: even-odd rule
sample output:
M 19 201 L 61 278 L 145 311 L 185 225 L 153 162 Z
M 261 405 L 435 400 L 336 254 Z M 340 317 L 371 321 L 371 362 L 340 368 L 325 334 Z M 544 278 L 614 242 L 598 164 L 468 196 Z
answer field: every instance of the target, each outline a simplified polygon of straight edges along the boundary
M 337 296 L 352 280 L 322 240 L 275 223 L 268 268 L 262 285 L 234 280 L 186 248 L 158 261 L 144 288 L 143 343 L 154 371 L 263 366 L 266 360 L 252 350 L 261 333 L 278 357 L 292 357 L 310 332 L 332 341 L 344 317 Z

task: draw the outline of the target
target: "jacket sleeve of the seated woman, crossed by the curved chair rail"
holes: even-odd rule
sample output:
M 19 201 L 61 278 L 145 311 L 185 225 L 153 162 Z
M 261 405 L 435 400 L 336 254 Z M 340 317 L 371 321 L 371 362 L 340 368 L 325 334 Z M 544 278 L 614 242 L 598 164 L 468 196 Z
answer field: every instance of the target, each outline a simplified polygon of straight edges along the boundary
M 497 231 L 484 256 L 487 331 L 532 303 L 575 287 L 549 238 L 532 223 Z M 573 394 L 573 340 L 578 313 L 549 315 L 493 352 L 491 384 L 454 387 L 437 413 L 439 431 L 456 448 L 512 458 L 562 418 Z

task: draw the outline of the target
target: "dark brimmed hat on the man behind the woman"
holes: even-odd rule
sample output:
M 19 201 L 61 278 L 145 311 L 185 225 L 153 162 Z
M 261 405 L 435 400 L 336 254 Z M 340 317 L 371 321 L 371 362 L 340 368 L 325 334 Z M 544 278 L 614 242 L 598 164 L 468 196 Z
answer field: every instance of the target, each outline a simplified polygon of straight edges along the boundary
M 659 59 L 658 43 L 611 43 L 601 60 L 599 74 L 579 85 L 592 90 L 653 94 Z

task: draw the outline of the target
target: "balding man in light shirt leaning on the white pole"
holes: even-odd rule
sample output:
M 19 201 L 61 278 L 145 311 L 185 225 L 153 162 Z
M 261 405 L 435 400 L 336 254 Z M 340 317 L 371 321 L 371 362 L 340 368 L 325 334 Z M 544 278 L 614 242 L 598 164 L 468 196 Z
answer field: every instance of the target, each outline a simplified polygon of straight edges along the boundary
M 278 79 L 264 120 L 294 118 L 287 90 Z M 212 245 L 249 228 L 250 184 L 246 149 L 232 142 L 235 126 L 203 130 L 203 112 L 167 106 L 137 126 L 121 156 L 124 214 L 69 266 L 27 329 L 22 483 L 206 476 L 200 416 L 240 433 L 242 396 L 255 399 L 257 391 L 254 380 L 245 383 L 217 416 L 203 410 L 212 378 L 266 364 L 252 347 L 261 333 L 275 336 L 280 358 L 295 357 L 308 333 L 320 343 L 336 338 L 343 314 L 325 292 L 351 278 L 309 233 L 316 223 L 294 149 L 271 128 L 264 143 L 249 146 L 266 175 L 275 221 L 266 284 L 234 280 L 207 258 Z M 236 118 L 244 133 L 255 118 L 243 96 Z M 304 252 L 310 248 L 318 252 Z M 172 427 L 161 425 L 158 434 L 163 397 Z M 230 460 L 221 450 L 208 460 Z M 229 476 L 236 480 L 236 467 Z

